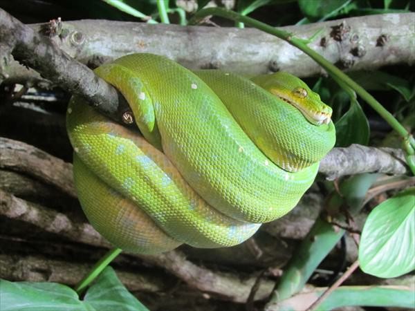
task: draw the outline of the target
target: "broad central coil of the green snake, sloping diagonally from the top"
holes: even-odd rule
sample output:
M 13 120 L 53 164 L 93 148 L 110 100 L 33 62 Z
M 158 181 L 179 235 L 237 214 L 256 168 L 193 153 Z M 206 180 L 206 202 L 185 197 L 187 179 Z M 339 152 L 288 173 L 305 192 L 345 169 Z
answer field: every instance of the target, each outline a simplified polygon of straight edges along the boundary
M 318 164 L 288 173 L 270 162 L 190 70 L 148 54 L 121 57 L 113 64 L 142 80 L 154 105 L 163 151 L 198 194 L 224 214 L 268 222 L 291 210 L 310 187 Z M 246 158 L 252 173 L 240 178 Z

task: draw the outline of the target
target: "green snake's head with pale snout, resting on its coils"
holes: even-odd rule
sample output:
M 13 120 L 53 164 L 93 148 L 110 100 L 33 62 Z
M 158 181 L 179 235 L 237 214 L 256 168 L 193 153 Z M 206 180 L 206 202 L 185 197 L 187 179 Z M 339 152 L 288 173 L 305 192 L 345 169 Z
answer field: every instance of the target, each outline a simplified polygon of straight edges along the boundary
M 320 95 L 311 91 L 311 88 L 298 77 L 280 71 L 255 77 L 252 81 L 284 102 L 295 106 L 311 124 L 330 123 L 333 112 L 331 107 L 324 104 L 320 100 Z

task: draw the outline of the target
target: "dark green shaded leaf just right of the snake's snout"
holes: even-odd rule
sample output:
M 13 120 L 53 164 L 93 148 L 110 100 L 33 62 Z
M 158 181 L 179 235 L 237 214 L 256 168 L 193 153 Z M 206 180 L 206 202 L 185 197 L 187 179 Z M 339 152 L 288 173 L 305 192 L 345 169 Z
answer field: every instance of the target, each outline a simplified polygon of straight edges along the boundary
M 356 98 L 351 99 L 349 110 L 335 123 L 335 132 L 336 147 L 369 142 L 369 122 Z

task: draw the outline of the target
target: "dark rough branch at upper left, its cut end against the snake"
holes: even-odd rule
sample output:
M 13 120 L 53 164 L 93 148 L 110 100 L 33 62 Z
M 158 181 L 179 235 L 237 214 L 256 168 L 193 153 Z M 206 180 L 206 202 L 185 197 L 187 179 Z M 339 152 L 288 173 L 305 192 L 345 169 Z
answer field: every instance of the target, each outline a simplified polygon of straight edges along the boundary
M 0 38 L 3 46 L 0 49 L 1 75 L 9 75 L 3 68 L 8 66 L 10 53 L 21 64 L 37 70 L 42 77 L 88 99 L 105 115 L 122 120 L 122 113 L 128 106 L 115 88 L 65 53 L 49 37 L 24 25 L 1 8 Z

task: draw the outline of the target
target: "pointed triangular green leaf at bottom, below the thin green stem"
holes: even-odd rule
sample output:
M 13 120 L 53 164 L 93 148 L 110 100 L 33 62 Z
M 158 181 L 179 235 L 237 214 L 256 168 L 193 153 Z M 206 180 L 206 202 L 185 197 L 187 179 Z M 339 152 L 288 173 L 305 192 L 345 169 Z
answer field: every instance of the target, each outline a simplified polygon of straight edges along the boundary
M 86 292 L 84 301 L 96 310 L 149 311 L 122 285 L 113 268 L 107 267 Z

